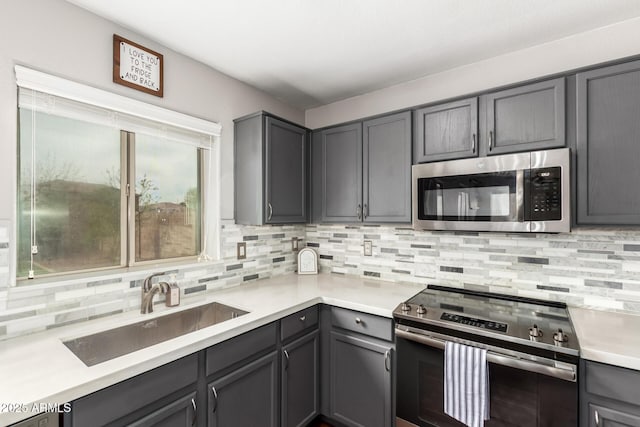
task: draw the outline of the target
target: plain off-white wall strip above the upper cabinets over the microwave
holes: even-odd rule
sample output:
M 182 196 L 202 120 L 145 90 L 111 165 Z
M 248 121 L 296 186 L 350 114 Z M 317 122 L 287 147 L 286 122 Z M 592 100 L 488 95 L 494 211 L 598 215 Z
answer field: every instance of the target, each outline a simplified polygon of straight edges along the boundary
M 638 55 L 639 39 L 640 18 L 631 19 L 312 108 L 305 124 L 317 129 Z

